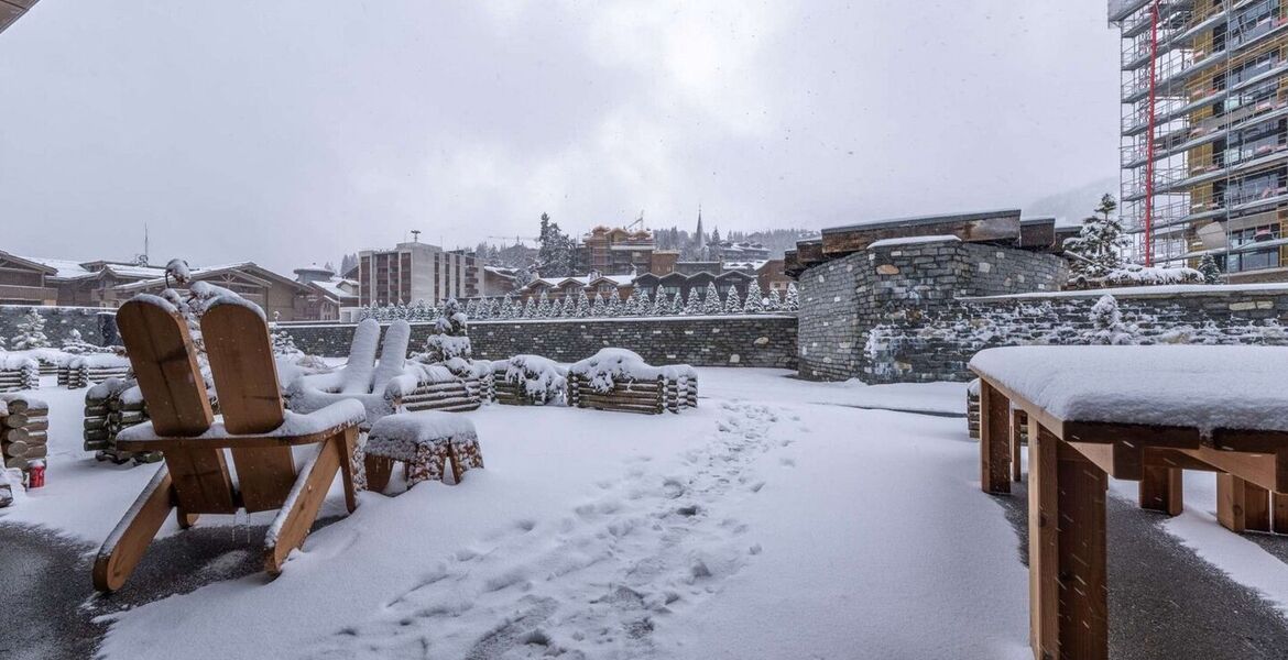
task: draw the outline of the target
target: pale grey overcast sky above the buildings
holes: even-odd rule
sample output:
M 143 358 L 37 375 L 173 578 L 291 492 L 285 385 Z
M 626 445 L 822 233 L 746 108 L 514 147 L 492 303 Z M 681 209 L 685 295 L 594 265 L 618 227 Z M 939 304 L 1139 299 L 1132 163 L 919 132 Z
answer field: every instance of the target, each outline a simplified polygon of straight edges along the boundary
M 43 0 L 0 33 L 0 250 L 1023 206 L 1117 174 L 1117 63 L 1096 1 Z

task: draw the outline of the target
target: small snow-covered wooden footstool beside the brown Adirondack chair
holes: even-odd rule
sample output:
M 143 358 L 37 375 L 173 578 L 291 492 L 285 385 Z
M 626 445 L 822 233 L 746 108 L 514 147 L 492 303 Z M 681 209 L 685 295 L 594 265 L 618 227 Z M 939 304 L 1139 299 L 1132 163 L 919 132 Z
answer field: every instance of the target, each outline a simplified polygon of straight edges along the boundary
M 367 488 L 377 493 L 389 485 L 394 462 L 406 466 L 407 488 L 425 480 L 440 481 L 448 459 L 457 484 L 465 471 L 483 467 L 474 423 L 465 416 L 435 410 L 379 419 L 371 426 L 365 452 Z

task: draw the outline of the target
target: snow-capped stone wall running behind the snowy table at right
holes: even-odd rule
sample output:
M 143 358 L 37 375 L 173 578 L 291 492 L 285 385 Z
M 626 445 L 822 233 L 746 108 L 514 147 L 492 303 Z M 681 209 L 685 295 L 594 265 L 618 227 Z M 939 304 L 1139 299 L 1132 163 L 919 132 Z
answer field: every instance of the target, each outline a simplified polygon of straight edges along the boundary
M 1095 314 L 1103 296 L 1113 298 Z M 1097 322 L 1099 319 L 1099 322 Z M 1288 345 L 1288 286 L 1177 286 L 961 298 L 886 314 L 862 347 L 867 382 L 966 381 L 978 351 L 1030 344 Z

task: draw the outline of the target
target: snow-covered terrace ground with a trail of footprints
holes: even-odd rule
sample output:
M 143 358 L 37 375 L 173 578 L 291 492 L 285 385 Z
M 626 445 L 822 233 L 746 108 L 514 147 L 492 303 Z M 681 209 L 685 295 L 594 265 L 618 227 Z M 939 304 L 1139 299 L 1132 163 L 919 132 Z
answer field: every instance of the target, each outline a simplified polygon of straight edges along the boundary
M 979 491 L 965 421 L 943 417 L 963 412 L 963 386 L 787 373 L 699 369 L 703 399 L 681 414 L 461 413 L 486 470 L 455 486 L 363 493 L 276 580 L 219 582 L 112 615 L 103 655 L 1029 657 L 1016 535 Z M 0 509 L 0 524 L 97 544 L 155 467 L 80 450 L 84 390 L 49 383 L 40 396 L 49 485 Z M 866 409 L 876 407 L 939 416 Z M 323 515 L 340 512 L 332 490 Z M 1185 529 L 1213 527 L 1202 515 L 1170 529 L 1220 565 L 1224 542 Z M 198 526 L 234 522 L 246 516 Z

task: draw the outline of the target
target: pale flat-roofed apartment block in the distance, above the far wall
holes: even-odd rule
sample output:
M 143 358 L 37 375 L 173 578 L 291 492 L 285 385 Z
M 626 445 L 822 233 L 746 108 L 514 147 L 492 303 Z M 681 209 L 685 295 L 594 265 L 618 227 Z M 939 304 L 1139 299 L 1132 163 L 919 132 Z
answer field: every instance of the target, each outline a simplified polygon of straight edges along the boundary
M 420 242 L 365 250 L 358 253 L 358 304 L 413 305 L 424 300 L 438 305 L 474 297 L 480 293 L 479 266 L 470 253 Z

